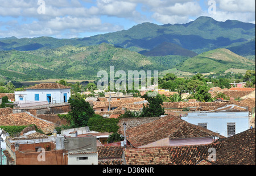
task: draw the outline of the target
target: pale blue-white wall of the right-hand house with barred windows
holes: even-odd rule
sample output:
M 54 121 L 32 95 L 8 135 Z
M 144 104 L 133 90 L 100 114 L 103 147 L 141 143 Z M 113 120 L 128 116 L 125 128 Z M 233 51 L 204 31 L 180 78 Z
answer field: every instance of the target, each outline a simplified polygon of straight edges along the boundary
M 236 123 L 236 134 L 249 129 L 249 112 L 188 112 L 188 116 L 181 119 L 198 125 L 207 123 L 207 129 L 220 135 L 227 136 L 227 123 Z

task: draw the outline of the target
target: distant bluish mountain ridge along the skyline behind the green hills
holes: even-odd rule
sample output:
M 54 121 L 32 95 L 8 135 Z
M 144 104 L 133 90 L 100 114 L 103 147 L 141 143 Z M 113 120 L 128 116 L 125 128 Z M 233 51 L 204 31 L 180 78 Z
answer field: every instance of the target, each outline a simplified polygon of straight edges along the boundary
M 237 20 L 217 22 L 210 17 L 201 16 L 186 24 L 159 26 L 152 23 L 142 23 L 131 27 L 129 30 L 84 38 L 4 38 L 0 39 L 0 50 L 29 51 L 59 48 L 64 45 L 81 47 L 108 43 L 139 52 L 151 50 L 164 42 L 168 42 L 196 53 L 203 53 L 251 39 L 255 39 L 255 24 L 243 23 Z

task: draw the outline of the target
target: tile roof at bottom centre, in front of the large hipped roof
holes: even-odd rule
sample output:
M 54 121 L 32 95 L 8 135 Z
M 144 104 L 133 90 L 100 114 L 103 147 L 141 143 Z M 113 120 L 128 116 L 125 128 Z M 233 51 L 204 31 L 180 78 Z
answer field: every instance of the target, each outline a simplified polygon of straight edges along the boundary
M 219 150 L 221 143 L 189 146 L 162 146 L 126 149 L 127 165 L 195 165 L 209 155 L 208 149 Z

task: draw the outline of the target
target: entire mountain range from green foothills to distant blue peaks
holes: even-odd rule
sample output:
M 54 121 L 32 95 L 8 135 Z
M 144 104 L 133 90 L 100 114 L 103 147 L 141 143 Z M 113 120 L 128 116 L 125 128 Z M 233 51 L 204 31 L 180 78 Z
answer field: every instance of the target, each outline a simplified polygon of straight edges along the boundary
M 142 23 L 84 38 L 0 38 L 0 81 L 94 79 L 110 65 L 125 71 L 255 69 L 255 24 L 201 16 L 186 24 Z

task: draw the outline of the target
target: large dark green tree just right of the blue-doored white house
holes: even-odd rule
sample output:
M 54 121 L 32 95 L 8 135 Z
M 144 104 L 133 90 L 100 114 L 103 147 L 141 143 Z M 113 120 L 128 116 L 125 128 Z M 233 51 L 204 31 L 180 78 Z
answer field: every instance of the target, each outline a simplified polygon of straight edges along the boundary
M 71 115 L 75 126 L 85 127 L 88 124 L 88 120 L 95 114 L 93 108 L 88 102 L 85 102 L 85 99 L 80 94 L 72 95 L 68 103 L 71 105 L 69 115 Z

